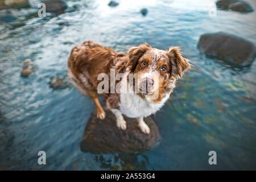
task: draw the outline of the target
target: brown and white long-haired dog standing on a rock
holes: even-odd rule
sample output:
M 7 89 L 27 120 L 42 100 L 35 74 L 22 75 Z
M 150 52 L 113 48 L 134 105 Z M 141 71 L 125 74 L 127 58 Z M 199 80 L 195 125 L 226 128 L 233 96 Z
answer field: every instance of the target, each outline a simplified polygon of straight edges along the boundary
M 98 85 L 102 81 L 98 76 L 104 73 L 111 77 L 112 71 L 115 75 L 123 74 L 122 78 L 114 80 L 115 84 L 121 85 L 117 89 L 119 92 L 108 92 L 113 88 L 108 81 L 110 88 L 102 86 L 101 89 L 106 92 L 101 94 L 105 98 L 106 108 L 115 115 L 119 129 L 126 130 L 124 114 L 137 118 L 138 127 L 144 134 L 150 134 L 150 128 L 143 118 L 164 105 L 176 81 L 190 68 L 190 61 L 183 57 L 180 47 L 170 47 L 164 51 L 152 48 L 147 43 L 129 48 L 126 54 L 88 41 L 74 47 L 68 59 L 69 78 L 84 96 L 92 98 L 100 119 L 104 119 L 106 114 L 98 99 Z M 136 75 L 132 76 L 131 83 L 129 75 Z M 124 92 L 123 88 L 129 88 L 131 92 Z

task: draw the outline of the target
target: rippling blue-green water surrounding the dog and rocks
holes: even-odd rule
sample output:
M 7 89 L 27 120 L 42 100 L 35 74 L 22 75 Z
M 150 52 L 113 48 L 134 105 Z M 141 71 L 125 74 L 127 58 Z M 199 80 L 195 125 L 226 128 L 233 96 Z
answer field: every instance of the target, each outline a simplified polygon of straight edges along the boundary
M 0 28 L 0 169 L 256 169 L 256 63 L 233 68 L 197 49 L 205 32 L 229 32 L 256 44 L 255 11 L 218 10 L 213 17 L 214 1 L 203 0 L 119 1 L 114 8 L 109 1 L 67 2 L 79 9 Z M 144 7 L 146 16 L 139 13 Z M 181 46 L 195 65 L 154 115 L 162 135 L 158 147 L 129 155 L 80 151 L 94 105 L 75 88 L 52 90 L 48 82 L 67 75 L 69 52 L 85 40 L 124 52 L 143 42 Z M 23 78 L 26 58 L 36 71 Z M 40 150 L 47 165 L 38 164 Z M 208 163 L 211 150 L 215 166 Z

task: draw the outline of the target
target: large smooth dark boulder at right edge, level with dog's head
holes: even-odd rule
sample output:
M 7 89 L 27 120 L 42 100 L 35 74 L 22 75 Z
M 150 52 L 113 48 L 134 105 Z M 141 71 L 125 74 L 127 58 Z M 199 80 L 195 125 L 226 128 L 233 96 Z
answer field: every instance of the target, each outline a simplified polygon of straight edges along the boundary
M 205 55 L 234 66 L 248 66 L 256 56 L 253 43 L 224 32 L 201 35 L 198 47 Z

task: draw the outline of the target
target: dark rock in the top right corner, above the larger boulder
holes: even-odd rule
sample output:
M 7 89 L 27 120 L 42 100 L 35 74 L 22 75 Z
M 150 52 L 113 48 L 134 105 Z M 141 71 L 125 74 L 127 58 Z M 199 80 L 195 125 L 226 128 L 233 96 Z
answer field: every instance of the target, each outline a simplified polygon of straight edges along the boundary
M 244 1 L 238 0 L 220 0 L 216 2 L 218 9 L 233 10 L 241 13 L 249 13 L 254 11 L 253 7 Z

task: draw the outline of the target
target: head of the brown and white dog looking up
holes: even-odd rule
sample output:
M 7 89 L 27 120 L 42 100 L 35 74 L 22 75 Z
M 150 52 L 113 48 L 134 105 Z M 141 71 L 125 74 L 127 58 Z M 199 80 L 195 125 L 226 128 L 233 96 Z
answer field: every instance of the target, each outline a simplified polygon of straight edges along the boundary
M 163 51 L 149 44 L 131 47 L 128 51 L 130 72 L 136 77 L 135 85 L 141 96 L 158 94 L 156 101 L 175 87 L 175 82 L 183 76 L 191 65 L 179 47 Z

